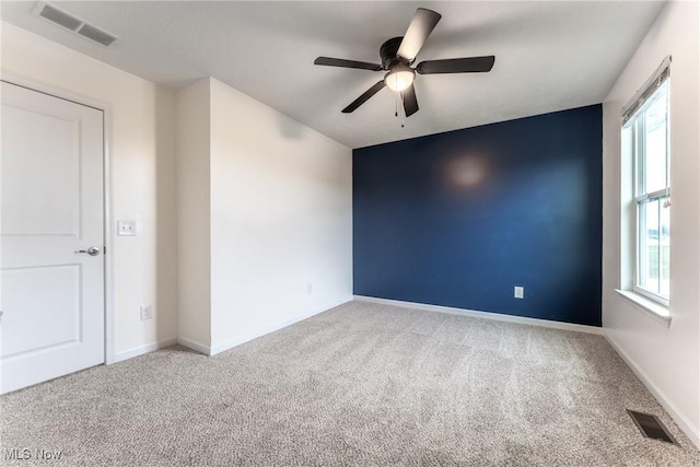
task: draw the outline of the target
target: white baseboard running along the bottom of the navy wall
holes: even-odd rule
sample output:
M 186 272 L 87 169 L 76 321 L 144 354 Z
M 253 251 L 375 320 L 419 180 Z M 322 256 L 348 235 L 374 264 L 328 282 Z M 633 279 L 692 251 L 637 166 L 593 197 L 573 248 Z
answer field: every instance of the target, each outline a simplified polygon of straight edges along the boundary
M 596 326 L 576 325 L 572 323 L 551 322 L 548 319 L 528 318 L 524 316 L 503 315 L 500 313 L 478 312 L 475 310 L 454 308 L 451 306 L 428 305 L 424 303 L 401 302 L 399 300 L 376 299 L 374 296 L 354 295 L 361 302 L 381 303 L 384 305 L 401 306 L 404 308 L 424 310 L 427 312 L 448 313 L 452 315 L 470 316 L 474 318 L 492 319 L 495 322 L 517 323 L 522 325 L 539 326 L 552 329 L 573 330 L 576 332 L 603 335 L 603 328 Z

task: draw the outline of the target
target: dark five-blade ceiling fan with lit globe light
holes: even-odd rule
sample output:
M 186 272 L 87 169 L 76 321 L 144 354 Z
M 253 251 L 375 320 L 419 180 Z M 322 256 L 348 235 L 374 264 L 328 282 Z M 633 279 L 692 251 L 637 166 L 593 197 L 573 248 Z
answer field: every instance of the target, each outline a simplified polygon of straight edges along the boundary
M 495 61 L 495 57 L 492 55 L 486 57 L 427 60 L 411 68 L 413 61 L 416 61 L 416 56 L 423 47 L 425 39 L 441 17 L 442 15 L 440 13 L 432 10 L 424 8 L 416 10 L 413 19 L 406 31 L 406 35 L 404 37 L 393 37 L 382 44 L 380 48 L 382 65 L 330 57 L 318 57 L 314 60 L 314 65 L 324 65 L 327 67 L 387 71 L 384 79 L 365 91 L 360 97 L 355 98 L 350 105 L 342 109 L 342 113 L 350 114 L 354 112 L 368 102 L 370 97 L 387 86 L 400 93 L 401 100 L 404 101 L 404 110 L 406 116 L 409 117 L 418 112 L 418 101 L 416 98 L 416 90 L 413 89 L 413 80 L 417 72 L 418 74 L 436 74 L 482 73 L 491 71 L 493 62 Z

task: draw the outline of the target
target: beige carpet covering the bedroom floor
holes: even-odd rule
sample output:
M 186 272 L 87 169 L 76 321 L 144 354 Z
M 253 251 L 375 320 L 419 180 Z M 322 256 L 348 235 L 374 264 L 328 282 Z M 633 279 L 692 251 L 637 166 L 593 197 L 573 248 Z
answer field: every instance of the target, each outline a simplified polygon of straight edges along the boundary
M 599 336 L 361 302 L 217 357 L 173 347 L 0 405 L 8 465 L 700 466 Z M 626 408 L 660 416 L 680 446 L 644 439 Z

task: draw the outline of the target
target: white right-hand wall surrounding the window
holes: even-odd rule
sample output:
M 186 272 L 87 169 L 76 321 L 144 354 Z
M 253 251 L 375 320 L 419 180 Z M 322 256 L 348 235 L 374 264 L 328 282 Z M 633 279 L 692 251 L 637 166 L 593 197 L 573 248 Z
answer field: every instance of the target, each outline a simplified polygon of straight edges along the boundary
M 603 326 L 608 340 L 700 447 L 700 74 L 698 2 L 669 2 L 603 105 Z M 621 107 L 663 58 L 670 68 L 672 266 L 667 328 L 629 304 L 620 288 Z

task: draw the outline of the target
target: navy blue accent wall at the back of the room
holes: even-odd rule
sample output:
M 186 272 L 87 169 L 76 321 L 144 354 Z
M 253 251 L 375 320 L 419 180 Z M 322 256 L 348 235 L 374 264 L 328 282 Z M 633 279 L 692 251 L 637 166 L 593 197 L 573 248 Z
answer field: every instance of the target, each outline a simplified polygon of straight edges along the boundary
M 352 161 L 357 295 L 600 326 L 600 105 Z

